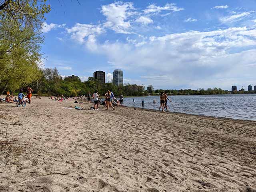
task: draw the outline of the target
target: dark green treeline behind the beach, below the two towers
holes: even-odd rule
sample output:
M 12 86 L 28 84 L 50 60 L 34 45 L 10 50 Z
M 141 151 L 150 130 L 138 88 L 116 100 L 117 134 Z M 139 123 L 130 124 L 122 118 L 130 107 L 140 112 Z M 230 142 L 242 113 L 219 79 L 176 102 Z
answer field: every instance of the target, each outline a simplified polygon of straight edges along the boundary
M 123 86 L 115 86 L 112 83 L 99 84 L 93 77 L 89 77 L 87 81 L 82 82 L 80 78 L 74 77 L 62 78 L 56 68 L 46 68 L 39 71 L 40 75 L 37 80 L 29 84 L 29 86 L 43 96 L 81 96 L 86 95 L 94 90 L 103 96 L 107 90 L 112 90 L 115 95 L 121 93 L 124 96 L 144 96 L 145 87 L 140 85 L 126 84 Z

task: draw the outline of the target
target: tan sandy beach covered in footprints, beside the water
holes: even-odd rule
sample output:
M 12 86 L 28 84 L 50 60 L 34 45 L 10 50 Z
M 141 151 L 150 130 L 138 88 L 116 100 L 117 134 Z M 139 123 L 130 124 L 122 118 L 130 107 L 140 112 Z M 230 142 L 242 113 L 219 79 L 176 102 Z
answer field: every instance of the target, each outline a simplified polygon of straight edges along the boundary
M 256 191 L 256 122 L 74 106 L 0 104 L 1 192 Z

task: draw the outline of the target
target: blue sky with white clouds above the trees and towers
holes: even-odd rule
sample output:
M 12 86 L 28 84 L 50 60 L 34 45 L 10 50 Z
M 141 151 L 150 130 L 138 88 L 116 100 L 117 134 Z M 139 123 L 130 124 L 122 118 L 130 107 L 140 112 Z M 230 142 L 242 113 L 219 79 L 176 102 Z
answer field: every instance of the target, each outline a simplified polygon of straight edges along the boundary
M 256 85 L 256 0 L 48 0 L 45 68 L 155 89 Z

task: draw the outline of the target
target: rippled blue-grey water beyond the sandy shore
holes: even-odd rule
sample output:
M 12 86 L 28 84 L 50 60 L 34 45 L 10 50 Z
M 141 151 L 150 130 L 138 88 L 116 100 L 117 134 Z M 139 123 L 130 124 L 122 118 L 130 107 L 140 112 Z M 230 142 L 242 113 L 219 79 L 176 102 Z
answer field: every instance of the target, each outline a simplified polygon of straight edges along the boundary
M 256 94 L 168 96 L 168 110 L 187 114 L 256 120 Z M 135 107 L 158 110 L 159 96 L 135 97 Z M 144 107 L 142 107 L 144 99 Z M 156 104 L 153 104 L 156 100 Z M 125 106 L 134 106 L 132 98 L 124 98 Z

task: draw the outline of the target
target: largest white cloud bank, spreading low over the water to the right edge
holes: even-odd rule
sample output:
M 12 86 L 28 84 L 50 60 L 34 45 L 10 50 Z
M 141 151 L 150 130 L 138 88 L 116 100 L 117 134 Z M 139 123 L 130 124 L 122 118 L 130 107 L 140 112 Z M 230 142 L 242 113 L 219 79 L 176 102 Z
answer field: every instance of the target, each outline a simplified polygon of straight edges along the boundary
M 256 49 L 239 51 L 256 46 L 255 37 L 256 29 L 246 27 L 189 31 L 142 41 L 139 38 L 133 43 L 97 43 L 94 52 L 107 56 L 115 68 L 131 72 L 136 68 L 136 72 L 143 72 L 144 84 L 154 82 L 155 87 L 170 88 L 186 84 L 198 88 L 204 80 L 207 88 L 214 86 L 221 76 L 228 78 L 246 73 L 248 65 L 256 63 Z M 139 43 L 142 45 L 136 46 Z M 255 73 L 256 69 L 250 72 Z M 110 73 L 109 78 L 112 78 Z

